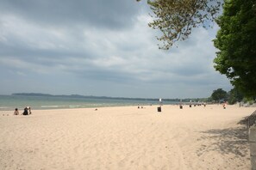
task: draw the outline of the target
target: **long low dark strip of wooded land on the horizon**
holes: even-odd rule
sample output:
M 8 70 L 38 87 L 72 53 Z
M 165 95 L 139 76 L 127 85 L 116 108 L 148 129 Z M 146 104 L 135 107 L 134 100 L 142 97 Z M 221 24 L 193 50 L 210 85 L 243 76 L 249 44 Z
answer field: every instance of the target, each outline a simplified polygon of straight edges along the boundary
M 127 98 L 127 97 L 108 97 L 108 96 L 93 96 L 93 95 L 79 95 L 79 94 L 71 94 L 71 95 L 53 95 L 53 94 L 41 94 L 41 93 L 15 93 L 11 95 L 22 95 L 22 96 L 44 96 L 44 97 L 66 97 L 66 98 L 95 98 L 95 99 L 109 99 L 109 100 L 151 100 L 151 101 L 159 101 L 156 98 Z M 173 102 L 193 102 L 197 101 L 207 101 L 208 98 L 187 98 L 187 99 L 162 99 L 164 101 L 173 101 Z

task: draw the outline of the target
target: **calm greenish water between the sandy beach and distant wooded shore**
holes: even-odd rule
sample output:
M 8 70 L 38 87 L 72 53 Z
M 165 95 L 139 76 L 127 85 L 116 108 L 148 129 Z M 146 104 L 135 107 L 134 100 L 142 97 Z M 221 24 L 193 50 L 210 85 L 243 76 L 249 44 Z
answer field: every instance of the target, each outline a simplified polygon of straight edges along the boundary
M 141 106 L 159 104 L 158 100 L 109 99 L 95 97 L 69 96 L 28 96 L 28 95 L 0 95 L 0 111 L 9 111 L 26 106 L 32 109 L 62 109 L 62 108 L 91 108 L 103 106 Z M 172 104 L 172 103 L 169 103 Z

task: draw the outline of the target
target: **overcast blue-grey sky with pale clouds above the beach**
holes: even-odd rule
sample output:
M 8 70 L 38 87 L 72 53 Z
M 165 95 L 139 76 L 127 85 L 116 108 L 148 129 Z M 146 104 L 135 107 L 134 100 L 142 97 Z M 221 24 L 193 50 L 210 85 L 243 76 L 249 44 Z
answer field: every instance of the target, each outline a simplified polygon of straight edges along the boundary
M 0 94 L 204 98 L 229 91 L 214 69 L 218 27 L 159 50 L 147 2 L 0 0 Z

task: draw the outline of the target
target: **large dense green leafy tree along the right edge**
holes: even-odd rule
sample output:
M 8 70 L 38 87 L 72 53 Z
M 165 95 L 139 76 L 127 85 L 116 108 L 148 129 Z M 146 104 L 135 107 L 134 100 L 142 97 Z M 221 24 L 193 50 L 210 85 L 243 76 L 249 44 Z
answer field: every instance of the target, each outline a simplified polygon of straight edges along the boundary
M 215 70 L 246 97 L 256 97 L 256 1 L 226 0 L 214 39 Z

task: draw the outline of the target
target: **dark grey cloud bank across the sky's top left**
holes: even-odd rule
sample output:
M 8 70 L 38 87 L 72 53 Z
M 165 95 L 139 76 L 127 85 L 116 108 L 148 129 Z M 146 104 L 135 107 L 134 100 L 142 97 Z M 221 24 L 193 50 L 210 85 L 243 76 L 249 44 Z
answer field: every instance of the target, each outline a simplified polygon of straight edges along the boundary
M 89 25 L 124 28 L 131 26 L 140 5 L 133 0 L 2 0 L 0 10 L 40 24 Z

